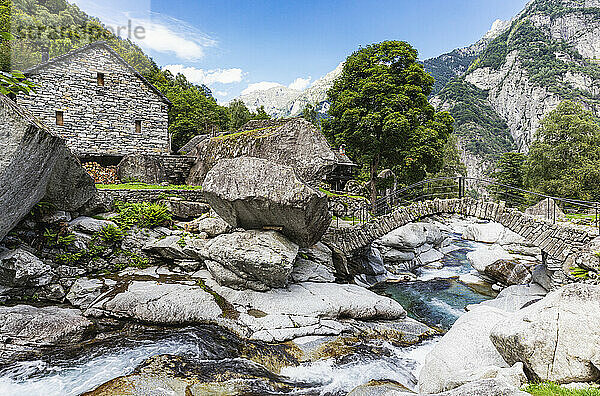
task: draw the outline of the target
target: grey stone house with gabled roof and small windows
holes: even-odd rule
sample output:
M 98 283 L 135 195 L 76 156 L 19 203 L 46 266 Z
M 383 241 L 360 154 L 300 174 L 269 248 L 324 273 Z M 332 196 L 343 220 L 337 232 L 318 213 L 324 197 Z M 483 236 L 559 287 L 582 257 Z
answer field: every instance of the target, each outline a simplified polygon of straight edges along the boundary
M 19 96 L 80 158 L 170 153 L 169 100 L 106 42 L 27 70 L 37 92 Z

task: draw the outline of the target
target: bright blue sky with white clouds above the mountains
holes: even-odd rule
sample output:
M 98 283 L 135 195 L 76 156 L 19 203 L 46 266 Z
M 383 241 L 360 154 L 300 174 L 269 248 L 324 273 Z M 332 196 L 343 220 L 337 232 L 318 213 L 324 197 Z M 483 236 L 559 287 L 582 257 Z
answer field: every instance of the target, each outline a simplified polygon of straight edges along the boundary
M 135 39 L 161 66 L 207 84 L 220 102 L 278 84 L 305 89 L 359 46 L 412 44 L 421 59 L 464 47 L 527 0 L 71 0 Z

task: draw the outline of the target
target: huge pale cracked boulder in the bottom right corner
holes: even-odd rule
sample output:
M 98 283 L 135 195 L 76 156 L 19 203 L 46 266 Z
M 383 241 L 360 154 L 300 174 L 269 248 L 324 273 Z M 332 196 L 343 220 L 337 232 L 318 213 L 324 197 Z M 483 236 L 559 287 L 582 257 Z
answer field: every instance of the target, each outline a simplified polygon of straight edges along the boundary
M 572 284 L 497 323 L 490 339 L 535 381 L 600 379 L 600 286 Z

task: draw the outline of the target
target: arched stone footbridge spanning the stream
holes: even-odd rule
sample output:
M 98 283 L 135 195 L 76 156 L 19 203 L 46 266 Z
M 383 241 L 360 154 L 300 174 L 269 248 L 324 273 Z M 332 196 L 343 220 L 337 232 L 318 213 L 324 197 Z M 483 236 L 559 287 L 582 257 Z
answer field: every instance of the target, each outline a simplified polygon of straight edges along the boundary
M 528 215 L 508 208 L 502 202 L 436 198 L 398 206 L 387 214 L 353 227 L 331 228 L 324 240 L 349 256 L 398 227 L 440 214 L 460 214 L 494 221 L 521 235 L 526 242 L 542 250 L 542 257 L 555 285 L 568 283 L 565 269 L 575 265 L 574 260 L 581 257 L 592 259 L 590 243 L 598 236 L 591 228 L 584 229 L 571 223 L 556 223 L 555 219 Z

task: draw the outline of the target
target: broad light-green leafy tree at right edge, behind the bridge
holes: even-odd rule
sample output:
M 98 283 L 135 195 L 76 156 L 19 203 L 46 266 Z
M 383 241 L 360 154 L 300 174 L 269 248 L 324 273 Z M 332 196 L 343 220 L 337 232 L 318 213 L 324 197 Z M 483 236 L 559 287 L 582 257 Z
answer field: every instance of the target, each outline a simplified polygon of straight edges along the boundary
M 525 182 L 547 195 L 600 200 L 598 119 L 571 101 L 548 114 L 529 150 Z

